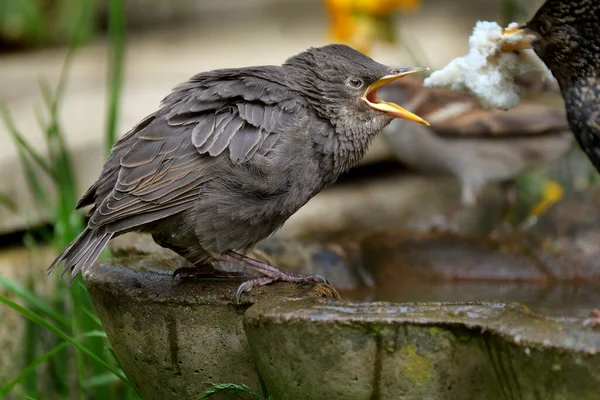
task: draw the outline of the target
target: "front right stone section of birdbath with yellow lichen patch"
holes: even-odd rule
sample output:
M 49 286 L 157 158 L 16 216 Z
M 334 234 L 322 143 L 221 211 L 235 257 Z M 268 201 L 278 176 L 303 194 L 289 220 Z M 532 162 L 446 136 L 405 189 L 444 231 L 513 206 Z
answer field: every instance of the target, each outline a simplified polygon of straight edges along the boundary
M 600 333 L 519 305 L 283 300 L 244 326 L 278 400 L 600 399 Z

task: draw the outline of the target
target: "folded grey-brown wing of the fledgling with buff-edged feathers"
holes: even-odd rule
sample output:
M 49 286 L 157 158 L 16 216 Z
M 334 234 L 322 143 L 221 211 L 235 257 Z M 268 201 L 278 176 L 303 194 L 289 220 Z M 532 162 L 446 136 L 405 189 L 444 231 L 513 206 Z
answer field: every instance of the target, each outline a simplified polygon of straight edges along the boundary
M 108 173 L 82 199 L 95 199 L 88 226 L 112 234 L 181 212 L 218 176 L 213 167 L 221 155 L 245 163 L 272 151 L 306 110 L 278 83 L 282 77 L 246 71 L 200 74 L 175 88 L 159 112 L 115 147 Z

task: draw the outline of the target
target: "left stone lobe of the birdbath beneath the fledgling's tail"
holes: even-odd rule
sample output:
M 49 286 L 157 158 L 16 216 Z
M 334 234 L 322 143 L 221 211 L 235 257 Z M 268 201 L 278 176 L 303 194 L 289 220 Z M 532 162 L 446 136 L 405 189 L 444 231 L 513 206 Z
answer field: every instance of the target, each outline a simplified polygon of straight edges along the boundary
M 336 296 L 326 285 L 280 283 L 235 304 L 243 279 L 171 279 L 178 257 L 121 257 L 94 265 L 84 282 L 108 339 L 145 400 L 194 399 L 209 383 L 260 391 L 242 318 L 257 299 Z M 213 398 L 233 398 L 217 396 Z

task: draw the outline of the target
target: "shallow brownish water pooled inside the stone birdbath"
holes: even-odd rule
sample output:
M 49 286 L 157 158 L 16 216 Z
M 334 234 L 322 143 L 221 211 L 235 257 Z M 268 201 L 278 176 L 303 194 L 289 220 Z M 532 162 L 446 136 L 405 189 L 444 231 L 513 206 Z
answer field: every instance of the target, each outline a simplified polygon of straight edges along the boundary
M 571 214 L 573 216 L 573 214 Z M 575 224 L 576 225 L 576 224 Z M 571 224 L 573 228 L 575 225 Z M 600 307 L 597 234 L 542 224 L 512 238 L 379 234 L 361 246 L 372 285 L 340 290 L 348 300 L 518 302 L 553 317 L 585 318 Z

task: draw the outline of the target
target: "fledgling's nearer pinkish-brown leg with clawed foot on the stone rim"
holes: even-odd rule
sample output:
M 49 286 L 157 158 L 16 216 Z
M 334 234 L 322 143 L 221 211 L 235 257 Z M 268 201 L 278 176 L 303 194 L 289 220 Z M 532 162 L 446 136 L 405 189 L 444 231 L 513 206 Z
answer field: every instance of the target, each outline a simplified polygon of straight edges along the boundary
M 250 279 L 240 285 L 235 293 L 235 299 L 239 303 L 242 293 L 252 290 L 256 286 L 264 286 L 273 282 L 324 282 L 327 283 L 327 279 L 318 274 L 294 274 L 292 272 L 284 272 L 277 267 L 269 264 L 254 260 L 250 257 L 246 257 L 242 254 L 238 254 L 234 251 L 227 251 L 223 254 L 215 255 L 215 258 L 220 261 L 228 261 L 236 263 L 243 267 L 254 270 L 258 273 L 263 274 L 263 277 Z

